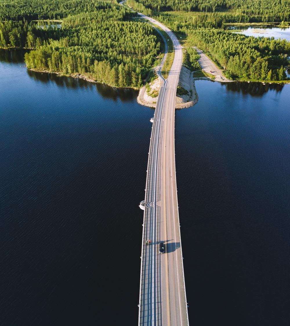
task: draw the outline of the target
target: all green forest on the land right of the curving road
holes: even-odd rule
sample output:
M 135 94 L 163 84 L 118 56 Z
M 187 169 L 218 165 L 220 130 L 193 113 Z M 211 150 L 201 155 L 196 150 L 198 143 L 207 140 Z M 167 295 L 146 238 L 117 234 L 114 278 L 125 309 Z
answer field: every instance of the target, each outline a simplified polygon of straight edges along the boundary
M 290 66 L 289 41 L 232 33 L 226 30 L 225 24 L 280 22 L 288 26 L 289 0 L 277 4 L 270 0 L 128 0 L 128 4 L 151 13 L 182 37 L 186 47 L 184 59 L 192 70 L 200 68 L 199 55 L 192 50 L 192 46 L 197 46 L 224 69 L 229 79 L 286 80 L 285 68 Z

